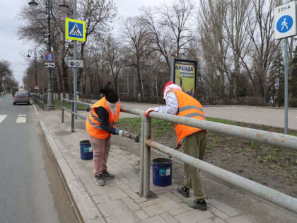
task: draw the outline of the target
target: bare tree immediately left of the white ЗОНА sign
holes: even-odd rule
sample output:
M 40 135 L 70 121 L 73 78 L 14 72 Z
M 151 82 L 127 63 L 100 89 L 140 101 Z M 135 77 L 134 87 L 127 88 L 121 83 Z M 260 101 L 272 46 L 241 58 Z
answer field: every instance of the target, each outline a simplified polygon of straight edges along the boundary
M 279 46 L 279 41 L 274 40 L 273 9 L 279 0 L 252 0 L 252 11 L 248 14 L 248 34 L 252 42 L 252 67 L 248 61 L 243 61 L 243 67 L 252 82 L 252 95 L 264 98 L 267 93 L 267 75 L 272 64 L 274 54 Z

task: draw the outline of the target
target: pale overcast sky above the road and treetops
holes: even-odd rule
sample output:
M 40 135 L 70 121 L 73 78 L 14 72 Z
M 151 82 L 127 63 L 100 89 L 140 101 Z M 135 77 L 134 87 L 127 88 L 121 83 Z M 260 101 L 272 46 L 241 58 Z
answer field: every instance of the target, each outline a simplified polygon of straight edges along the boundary
M 54 0 L 52 0 L 54 1 Z M 80 0 L 78 0 L 80 1 Z M 13 76 L 23 85 L 23 75 L 28 67 L 23 54 L 33 48 L 28 42 L 18 40 L 17 29 L 21 21 L 17 15 L 21 6 L 28 4 L 29 0 L 2 1 L 0 3 L 0 60 L 5 59 L 11 62 Z M 119 16 L 136 16 L 139 8 L 143 6 L 158 6 L 170 0 L 114 0 L 117 4 Z M 46 19 L 46 18 L 45 18 Z

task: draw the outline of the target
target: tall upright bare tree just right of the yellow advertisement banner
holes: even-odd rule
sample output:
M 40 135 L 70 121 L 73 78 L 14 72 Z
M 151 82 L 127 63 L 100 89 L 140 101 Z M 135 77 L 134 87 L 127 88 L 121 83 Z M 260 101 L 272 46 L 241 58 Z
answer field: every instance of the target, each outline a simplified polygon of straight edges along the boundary
M 226 97 L 226 67 L 228 38 L 223 21 L 227 16 L 227 4 L 223 0 L 201 1 L 201 44 L 206 62 L 204 79 L 211 86 L 211 96 Z

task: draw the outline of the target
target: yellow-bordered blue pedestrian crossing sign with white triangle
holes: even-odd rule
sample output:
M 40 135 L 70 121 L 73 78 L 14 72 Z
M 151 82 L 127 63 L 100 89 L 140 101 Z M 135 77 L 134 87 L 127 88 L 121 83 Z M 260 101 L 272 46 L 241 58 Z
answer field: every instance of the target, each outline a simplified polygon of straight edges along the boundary
M 68 40 L 86 41 L 86 22 L 72 18 L 65 19 L 65 38 Z

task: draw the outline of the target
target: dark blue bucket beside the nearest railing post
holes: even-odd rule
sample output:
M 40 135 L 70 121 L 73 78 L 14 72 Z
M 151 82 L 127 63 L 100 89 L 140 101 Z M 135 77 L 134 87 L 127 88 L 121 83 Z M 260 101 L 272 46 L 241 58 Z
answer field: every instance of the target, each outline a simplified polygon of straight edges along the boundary
M 165 187 L 172 183 L 173 161 L 168 158 L 153 159 L 153 185 Z

